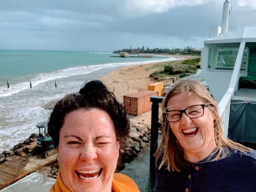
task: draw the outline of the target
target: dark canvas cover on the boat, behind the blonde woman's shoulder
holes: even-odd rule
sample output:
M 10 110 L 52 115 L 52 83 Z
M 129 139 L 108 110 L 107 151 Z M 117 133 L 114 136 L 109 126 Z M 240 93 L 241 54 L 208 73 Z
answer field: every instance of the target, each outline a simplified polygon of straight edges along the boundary
M 231 100 L 228 137 L 236 142 L 256 143 L 256 102 Z

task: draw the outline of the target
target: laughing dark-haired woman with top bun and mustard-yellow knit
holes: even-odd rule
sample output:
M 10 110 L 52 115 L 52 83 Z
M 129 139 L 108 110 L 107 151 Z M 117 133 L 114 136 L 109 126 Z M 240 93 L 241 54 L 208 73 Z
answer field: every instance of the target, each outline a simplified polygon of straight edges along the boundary
M 48 132 L 57 148 L 59 171 L 50 191 L 139 191 L 131 178 L 114 173 L 129 129 L 125 109 L 98 80 L 57 102 Z

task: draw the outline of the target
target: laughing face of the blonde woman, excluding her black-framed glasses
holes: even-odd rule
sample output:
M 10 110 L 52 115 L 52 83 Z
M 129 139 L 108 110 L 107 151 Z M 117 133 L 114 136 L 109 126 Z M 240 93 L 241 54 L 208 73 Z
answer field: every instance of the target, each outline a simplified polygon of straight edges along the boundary
M 167 103 L 169 110 L 184 110 L 189 106 L 205 104 L 197 95 L 177 94 Z M 210 106 L 204 107 L 204 115 L 198 118 L 190 118 L 185 113 L 179 121 L 169 122 L 172 132 L 183 147 L 185 152 L 202 153 L 209 147 L 216 146 L 214 139 L 214 113 Z M 198 128 L 196 134 L 191 137 L 183 132 L 189 132 Z M 197 129 L 196 129 L 197 130 Z

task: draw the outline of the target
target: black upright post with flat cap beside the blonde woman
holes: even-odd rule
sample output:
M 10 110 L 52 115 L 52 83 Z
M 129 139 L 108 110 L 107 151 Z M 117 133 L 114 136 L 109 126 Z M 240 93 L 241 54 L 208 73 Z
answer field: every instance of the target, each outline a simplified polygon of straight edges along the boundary
M 164 97 L 162 96 L 152 96 L 150 97 L 150 102 L 152 102 L 152 110 L 151 110 L 151 137 L 150 137 L 150 170 L 155 169 L 155 161 L 154 153 L 156 152 L 158 143 L 158 109 L 159 103 L 162 102 Z

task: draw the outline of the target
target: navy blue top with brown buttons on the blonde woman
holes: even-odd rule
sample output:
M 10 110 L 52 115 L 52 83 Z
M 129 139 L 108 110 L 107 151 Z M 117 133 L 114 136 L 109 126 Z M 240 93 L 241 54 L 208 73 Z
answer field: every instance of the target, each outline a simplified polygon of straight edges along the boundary
M 156 168 L 156 192 L 250 192 L 256 191 L 256 151 L 243 154 L 229 150 L 217 161 L 204 160 L 190 164 L 181 173 Z M 160 160 L 161 162 L 161 160 Z

